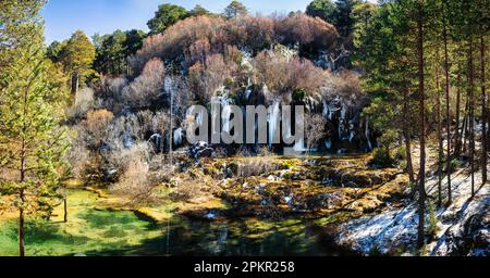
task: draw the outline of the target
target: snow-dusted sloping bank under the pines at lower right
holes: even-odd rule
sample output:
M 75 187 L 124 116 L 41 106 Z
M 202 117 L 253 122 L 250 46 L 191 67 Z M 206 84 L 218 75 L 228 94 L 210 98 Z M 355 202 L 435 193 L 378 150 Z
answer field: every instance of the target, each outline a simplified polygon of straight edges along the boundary
M 443 198 L 448 184 L 442 181 Z M 481 172 L 475 173 L 475 198 L 471 198 L 467 168 L 452 174 L 453 202 L 449 206 L 429 208 L 426 227 L 428 243 L 422 255 L 454 256 L 490 254 L 490 190 L 481 186 Z M 427 180 L 427 193 L 434 203 L 438 178 Z M 348 220 L 339 227 L 335 243 L 364 255 L 414 255 L 417 240 L 417 205 L 406 200 L 401 206 L 388 204 L 379 214 Z

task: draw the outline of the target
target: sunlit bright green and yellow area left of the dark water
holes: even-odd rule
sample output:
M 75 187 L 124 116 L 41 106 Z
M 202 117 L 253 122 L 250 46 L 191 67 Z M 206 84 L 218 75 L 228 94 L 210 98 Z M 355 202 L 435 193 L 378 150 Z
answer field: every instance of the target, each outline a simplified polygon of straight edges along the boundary
M 69 194 L 69 222 L 63 223 L 61 207 L 51 220 L 27 219 L 25 244 L 28 256 L 75 255 L 136 247 L 161 231 L 132 212 L 98 211 L 97 195 L 83 190 Z M 0 220 L 0 255 L 16 256 L 17 222 Z

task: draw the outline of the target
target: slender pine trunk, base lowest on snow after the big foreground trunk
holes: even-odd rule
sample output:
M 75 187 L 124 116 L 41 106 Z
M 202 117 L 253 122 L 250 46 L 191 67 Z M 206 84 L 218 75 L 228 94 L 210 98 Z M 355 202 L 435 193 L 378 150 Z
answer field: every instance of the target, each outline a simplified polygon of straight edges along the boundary
M 449 77 L 449 54 L 448 54 L 448 28 L 445 22 L 445 1 L 442 1 L 442 23 L 443 23 L 443 39 L 444 39 L 444 75 L 445 75 L 445 132 L 448 136 L 446 141 L 446 154 L 445 154 L 445 172 L 448 175 L 448 204 L 452 203 L 451 192 L 451 113 L 450 113 L 450 77 Z M 458 126 L 456 125 L 456 129 Z

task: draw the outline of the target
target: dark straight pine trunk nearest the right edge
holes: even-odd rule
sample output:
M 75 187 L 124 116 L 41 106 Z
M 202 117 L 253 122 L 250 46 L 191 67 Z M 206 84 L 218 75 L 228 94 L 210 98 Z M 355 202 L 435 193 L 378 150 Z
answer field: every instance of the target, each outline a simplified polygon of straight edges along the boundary
M 480 66 L 481 66 L 481 184 L 487 182 L 487 92 L 485 76 L 485 38 L 480 36 Z

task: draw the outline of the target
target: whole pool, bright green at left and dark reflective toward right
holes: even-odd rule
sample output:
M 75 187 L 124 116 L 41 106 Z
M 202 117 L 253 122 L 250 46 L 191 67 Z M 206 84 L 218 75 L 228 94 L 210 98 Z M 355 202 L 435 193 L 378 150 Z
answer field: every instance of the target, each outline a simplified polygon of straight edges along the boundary
M 304 220 L 192 220 L 180 216 L 157 224 L 128 211 L 97 210 L 97 194 L 69 191 L 69 222 L 28 220 L 29 256 L 74 255 L 324 255 Z M 58 208 L 59 210 L 59 208 Z M 58 211 L 57 210 L 57 211 Z M 56 211 L 56 213 L 57 213 Z M 0 222 L 0 255 L 15 256 L 17 223 Z

